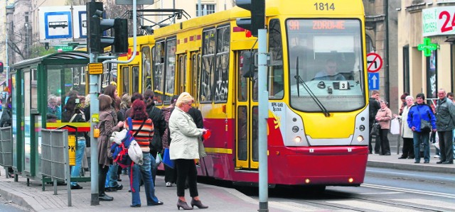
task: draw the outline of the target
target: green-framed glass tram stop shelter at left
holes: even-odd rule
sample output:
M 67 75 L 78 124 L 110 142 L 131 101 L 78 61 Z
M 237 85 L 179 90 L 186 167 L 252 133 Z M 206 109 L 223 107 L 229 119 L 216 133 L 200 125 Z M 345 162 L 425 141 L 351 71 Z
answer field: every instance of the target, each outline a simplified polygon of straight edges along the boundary
M 87 52 L 71 51 L 23 60 L 11 66 L 12 167 L 16 181 L 18 175 L 26 177 L 27 182 L 29 179 L 43 181 L 43 189 L 44 182 L 50 182 L 41 174 L 42 128 L 71 125 L 78 132 L 90 132 L 90 123 L 62 122 L 65 96 L 70 91 L 77 91 L 79 96 L 87 95 L 86 67 L 89 62 Z M 84 106 L 83 99 L 80 104 Z M 75 131 L 70 127 L 65 129 Z M 75 147 L 69 149 L 75 151 Z M 71 181 L 88 182 L 90 177 L 73 178 Z

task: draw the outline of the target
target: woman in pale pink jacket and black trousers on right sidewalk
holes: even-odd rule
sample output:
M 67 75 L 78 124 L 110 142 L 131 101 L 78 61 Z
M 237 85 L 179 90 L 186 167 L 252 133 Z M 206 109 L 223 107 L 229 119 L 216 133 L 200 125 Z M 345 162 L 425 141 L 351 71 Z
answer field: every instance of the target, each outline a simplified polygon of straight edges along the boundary
M 381 108 L 376 113 L 376 121 L 378 121 L 381 129 L 379 130 L 381 155 L 390 155 L 390 144 L 387 133 L 390 130 L 390 120 L 392 120 L 392 111 L 387 108 L 387 103 L 384 100 L 379 101 Z

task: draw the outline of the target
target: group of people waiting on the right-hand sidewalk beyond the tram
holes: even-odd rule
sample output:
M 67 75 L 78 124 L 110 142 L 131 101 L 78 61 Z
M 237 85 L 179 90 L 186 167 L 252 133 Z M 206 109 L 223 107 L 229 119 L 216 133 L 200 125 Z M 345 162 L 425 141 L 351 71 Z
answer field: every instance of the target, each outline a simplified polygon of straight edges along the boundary
M 370 99 L 370 132 L 374 123 L 379 123 L 379 133 L 375 135 L 374 153 L 390 155 L 390 144 L 387 133 L 390 129 L 392 112 L 387 108 L 387 103 L 380 99 L 379 91 L 373 91 Z M 400 113 L 393 118 L 401 121 L 400 135 L 403 138 L 402 155 L 399 159 L 414 159 L 420 163 L 430 161 L 430 140 L 432 143 L 439 138 L 437 164 L 454 163 L 454 129 L 455 129 L 455 101 L 454 94 L 446 93 L 444 89 L 438 90 L 438 99 L 432 107 L 425 102 L 424 94 L 415 97 L 405 93 L 401 96 L 402 106 Z M 373 154 L 373 135 L 370 134 L 368 150 Z M 422 152 L 422 153 L 421 153 Z

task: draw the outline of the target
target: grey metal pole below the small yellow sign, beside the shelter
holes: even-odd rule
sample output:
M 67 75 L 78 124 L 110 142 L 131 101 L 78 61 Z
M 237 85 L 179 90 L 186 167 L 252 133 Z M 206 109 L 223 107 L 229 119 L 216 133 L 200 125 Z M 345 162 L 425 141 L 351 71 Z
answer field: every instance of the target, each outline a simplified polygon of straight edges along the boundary
M 90 53 L 90 62 L 97 62 L 98 55 Z M 100 108 L 98 107 L 98 96 L 100 92 L 98 90 L 98 74 L 90 74 L 90 182 L 91 182 L 91 200 L 90 206 L 97 206 L 100 204 L 100 199 L 98 199 L 98 139 L 93 137 L 93 129 L 97 125 L 97 120 L 94 120 L 93 115 L 100 113 Z

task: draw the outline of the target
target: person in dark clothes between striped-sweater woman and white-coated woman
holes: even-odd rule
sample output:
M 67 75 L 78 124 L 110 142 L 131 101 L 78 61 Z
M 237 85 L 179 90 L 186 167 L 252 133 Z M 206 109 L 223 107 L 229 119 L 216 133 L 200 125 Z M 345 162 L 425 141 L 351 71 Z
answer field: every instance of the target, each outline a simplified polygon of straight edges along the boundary
M 154 137 L 150 143 L 150 154 L 156 158 L 158 152 L 162 152 L 163 150 L 163 143 L 161 137 L 166 130 L 166 121 L 164 121 L 163 113 L 161 113 L 161 109 L 157 108 L 154 103 L 154 91 L 151 89 L 146 89 L 144 91 L 144 103 L 146 104 L 146 112 L 149 114 L 149 118 L 154 123 Z M 155 184 L 156 179 L 156 171 L 158 167 L 153 162 L 151 165 L 151 177 Z

